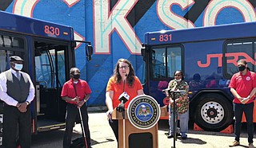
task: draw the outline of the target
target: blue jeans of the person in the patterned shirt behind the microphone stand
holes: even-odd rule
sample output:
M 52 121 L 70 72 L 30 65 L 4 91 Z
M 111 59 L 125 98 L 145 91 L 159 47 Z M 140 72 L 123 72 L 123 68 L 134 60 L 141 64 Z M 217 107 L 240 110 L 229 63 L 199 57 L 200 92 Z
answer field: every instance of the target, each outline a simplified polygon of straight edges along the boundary
M 169 108 L 169 132 L 170 134 L 174 135 L 174 112 L 172 108 Z M 189 111 L 186 111 L 184 114 L 178 114 L 177 111 L 175 112 L 175 119 L 179 117 L 179 127 L 181 130 L 182 136 L 186 136 L 188 131 L 188 124 L 189 124 Z M 176 122 L 176 129 L 177 129 L 177 122 Z

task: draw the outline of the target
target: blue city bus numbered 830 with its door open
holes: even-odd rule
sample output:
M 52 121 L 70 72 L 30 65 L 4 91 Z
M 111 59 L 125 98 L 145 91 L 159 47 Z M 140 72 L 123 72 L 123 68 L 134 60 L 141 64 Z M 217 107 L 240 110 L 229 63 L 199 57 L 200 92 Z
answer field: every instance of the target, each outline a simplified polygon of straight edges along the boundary
M 10 56 L 21 56 L 22 71 L 29 73 L 36 88 L 31 105 L 33 134 L 65 128 L 66 103 L 60 97 L 62 85 L 70 79 L 70 68 L 75 66 L 77 42 L 86 44 L 85 60 L 90 60 L 92 54 L 90 42 L 75 41 L 74 29 L 67 25 L 3 11 L 0 18 L 0 71 L 10 69 Z M 2 104 L 0 119 L 3 118 Z M 0 126 L 2 128 L 2 122 Z M 2 142 L 2 137 L 0 140 Z

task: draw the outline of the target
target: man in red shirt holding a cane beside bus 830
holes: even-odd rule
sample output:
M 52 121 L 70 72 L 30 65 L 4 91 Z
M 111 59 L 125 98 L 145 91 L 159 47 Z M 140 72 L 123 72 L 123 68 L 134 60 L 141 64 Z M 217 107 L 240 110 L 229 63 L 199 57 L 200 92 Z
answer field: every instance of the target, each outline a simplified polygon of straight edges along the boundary
M 88 113 L 86 101 L 90 98 L 90 87 L 85 80 L 80 80 L 80 70 L 70 69 L 70 77 L 62 88 L 62 99 L 66 101 L 66 130 L 63 139 L 63 147 L 70 148 L 72 131 L 75 120 L 79 117 L 80 108 L 82 123 L 86 134 L 86 148 L 90 148 L 90 130 L 88 126 Z M 82 125 L 81 125 L 82 127 Z

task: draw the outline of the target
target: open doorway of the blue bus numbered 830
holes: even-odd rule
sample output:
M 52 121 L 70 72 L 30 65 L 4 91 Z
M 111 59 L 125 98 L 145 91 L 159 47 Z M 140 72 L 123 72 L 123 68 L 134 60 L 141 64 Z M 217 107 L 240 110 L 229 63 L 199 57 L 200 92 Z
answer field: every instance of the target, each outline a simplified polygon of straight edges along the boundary
M 66 103 L 61 91 L 69 71 L 68 49 L 68 44 L 34 41 L 38 132 L 65 127 Z

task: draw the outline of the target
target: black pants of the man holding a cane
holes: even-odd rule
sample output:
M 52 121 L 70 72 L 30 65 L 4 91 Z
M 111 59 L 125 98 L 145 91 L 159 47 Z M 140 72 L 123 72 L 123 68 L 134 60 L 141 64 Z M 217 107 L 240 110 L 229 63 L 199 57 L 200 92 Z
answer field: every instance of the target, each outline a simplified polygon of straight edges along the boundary
M 83 127 L 85 128 L 86 132 L 86 143 L 87 146 L 90 147 L 90 130 L 88 125 L 88 112 L 86 103 L 80 107 L 81 114 L 82 114 L 82 123 Z M 71 138 L 72 138 L 72 132 L 74 127 L 74 122 L 76 119 L 80 118 L 79 111 L 77 106 L 74 104 L 67 103 L 66 105 L 66 130 L 63 138 L 63 147 L 64 148 L 70 148 L 71 145 Z M 82 127 L 82 124 L 81 124 Z

